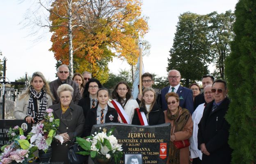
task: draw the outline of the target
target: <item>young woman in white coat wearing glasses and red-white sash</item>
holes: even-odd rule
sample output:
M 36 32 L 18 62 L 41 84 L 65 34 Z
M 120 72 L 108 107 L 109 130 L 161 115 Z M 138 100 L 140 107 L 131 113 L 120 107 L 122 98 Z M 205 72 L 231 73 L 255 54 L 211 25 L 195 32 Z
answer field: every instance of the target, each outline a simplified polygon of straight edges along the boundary
M 117 110 L 118 121 L 120 123 L 131 124 L 133 120 L 134 110 L 139 107 L 136 100 L 131 99 L 131 91 L 127 82 L 117 83 L 113 92 L 113 100 L 109 103 L 110 107 Z

